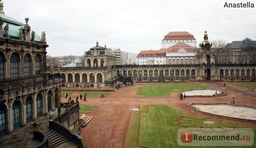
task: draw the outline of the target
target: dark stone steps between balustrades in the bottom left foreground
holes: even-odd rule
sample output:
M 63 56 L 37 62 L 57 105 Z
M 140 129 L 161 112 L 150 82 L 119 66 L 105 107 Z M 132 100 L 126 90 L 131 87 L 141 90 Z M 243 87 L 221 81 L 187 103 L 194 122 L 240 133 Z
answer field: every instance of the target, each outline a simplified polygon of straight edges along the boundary
M 52 129 L 47 131 L 46 135 L 48 136 L 48 142 L 50 147 L 55 147 L 69 141 L 67 137 Z

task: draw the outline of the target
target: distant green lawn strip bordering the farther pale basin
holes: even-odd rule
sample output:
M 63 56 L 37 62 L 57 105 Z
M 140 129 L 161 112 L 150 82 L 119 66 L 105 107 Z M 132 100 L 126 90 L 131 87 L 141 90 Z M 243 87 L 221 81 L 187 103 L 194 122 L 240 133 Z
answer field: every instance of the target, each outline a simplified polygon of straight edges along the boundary
M 190 84 L 190 83 L 173 83 L 173 84 L 161 84 L 161 85 L 148 85 L 137 88 L 136 94 L 141 97 L 168 97 L 172 92 L 179 92 L 189 89 L 207 89 L 210 88 L 207 85 L 202 84 Z

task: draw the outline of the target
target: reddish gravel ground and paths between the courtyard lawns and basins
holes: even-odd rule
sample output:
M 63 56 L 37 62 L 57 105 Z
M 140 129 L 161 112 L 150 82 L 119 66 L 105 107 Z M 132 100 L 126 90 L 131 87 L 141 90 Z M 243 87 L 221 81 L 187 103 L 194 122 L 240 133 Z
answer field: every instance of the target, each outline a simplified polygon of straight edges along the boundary
M 212 88 L 224 90 L 221 86 L 224 83 L 196 83 L 206 84 Z M 217 85 L 216 85 L 217 84 Z M 87 102 L 80 101 L 81 104 L 95 104 L 97 107 L 87 115 L 93 116 L 89 124 L 82 128 L 80 136 L 86 142 L 87 148 L 91 147 L 123 147 L 127 128 L 129 126 L 130 116 L 133 108 L 139 108 L 141 104 L 172 104 L 184 110 L 190 115 L 202 115 L 195 112 L 194 109 L 186 107 L 189 103 L 230 103 L 232 95 L 236 95 L 236 104 L 250 104 L 256 106 L 255 91 L 240 89 L 227 84 L 227 95 L 221 97 L 187 97 L 179 100 L 178 93 L 172 93 L 169 97 L 141 98 L 136 95 L 137 87 L 148 85 L 148 83 L 134 83 L 133 86 L 121 87 L 117 92 L 110 92 L 108 97 L 88 97 Z M 243 93 L 241 93 L 241 91 Z M 75 98 L 80 91 L 73 91 Z M 247 96 L 252 94 L 252 96 Z M 62 97 L 62 102 L 67 99 Z M 206 115 L 207 116 L 207 115 Z M 222 121 L 223 118 L 207 116 L 209 118 Z M 226 120 L 226 119 L 225 119 Z M 236 121 L 239 125 L 256 127 L 254 123 Z

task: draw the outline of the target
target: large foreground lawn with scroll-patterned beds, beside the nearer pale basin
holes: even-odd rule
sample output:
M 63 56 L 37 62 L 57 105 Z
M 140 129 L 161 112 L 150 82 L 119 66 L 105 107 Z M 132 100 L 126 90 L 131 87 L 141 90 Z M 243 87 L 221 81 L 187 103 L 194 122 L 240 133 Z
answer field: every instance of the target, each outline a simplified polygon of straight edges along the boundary
M 203 124 L 203 121 L 214 124 Z M 177 142 L 177 131 L 181 128 L 250 128 L 238 126 L 236 122 L 209 119 L 206 116 L 191 116 L 172 105 L 141 105 L 139 111 L 133 111 L 123 147 L 184 147 Z M 256 128 L 254 143 L 256 146 Z M 138 141 L 139 140 L 139 141 Z M 226 146 L 205 146 L 226 147 Z M 240 147 L 240 146 L 232 146 Z

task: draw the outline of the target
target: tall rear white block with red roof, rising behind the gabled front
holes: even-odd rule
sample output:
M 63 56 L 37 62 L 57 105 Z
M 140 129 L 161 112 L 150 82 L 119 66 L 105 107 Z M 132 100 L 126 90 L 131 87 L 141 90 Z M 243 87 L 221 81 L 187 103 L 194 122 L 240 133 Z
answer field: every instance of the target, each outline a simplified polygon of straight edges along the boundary
M 162 48 L 172 47 L 179 42 L 183 42 L 192 47 L 197 47 L 197 41 L 195 37 L 190 33 L 183 31 L 183 32 L 169 32 L 168 34 L 166 34 L 162 40 Z

